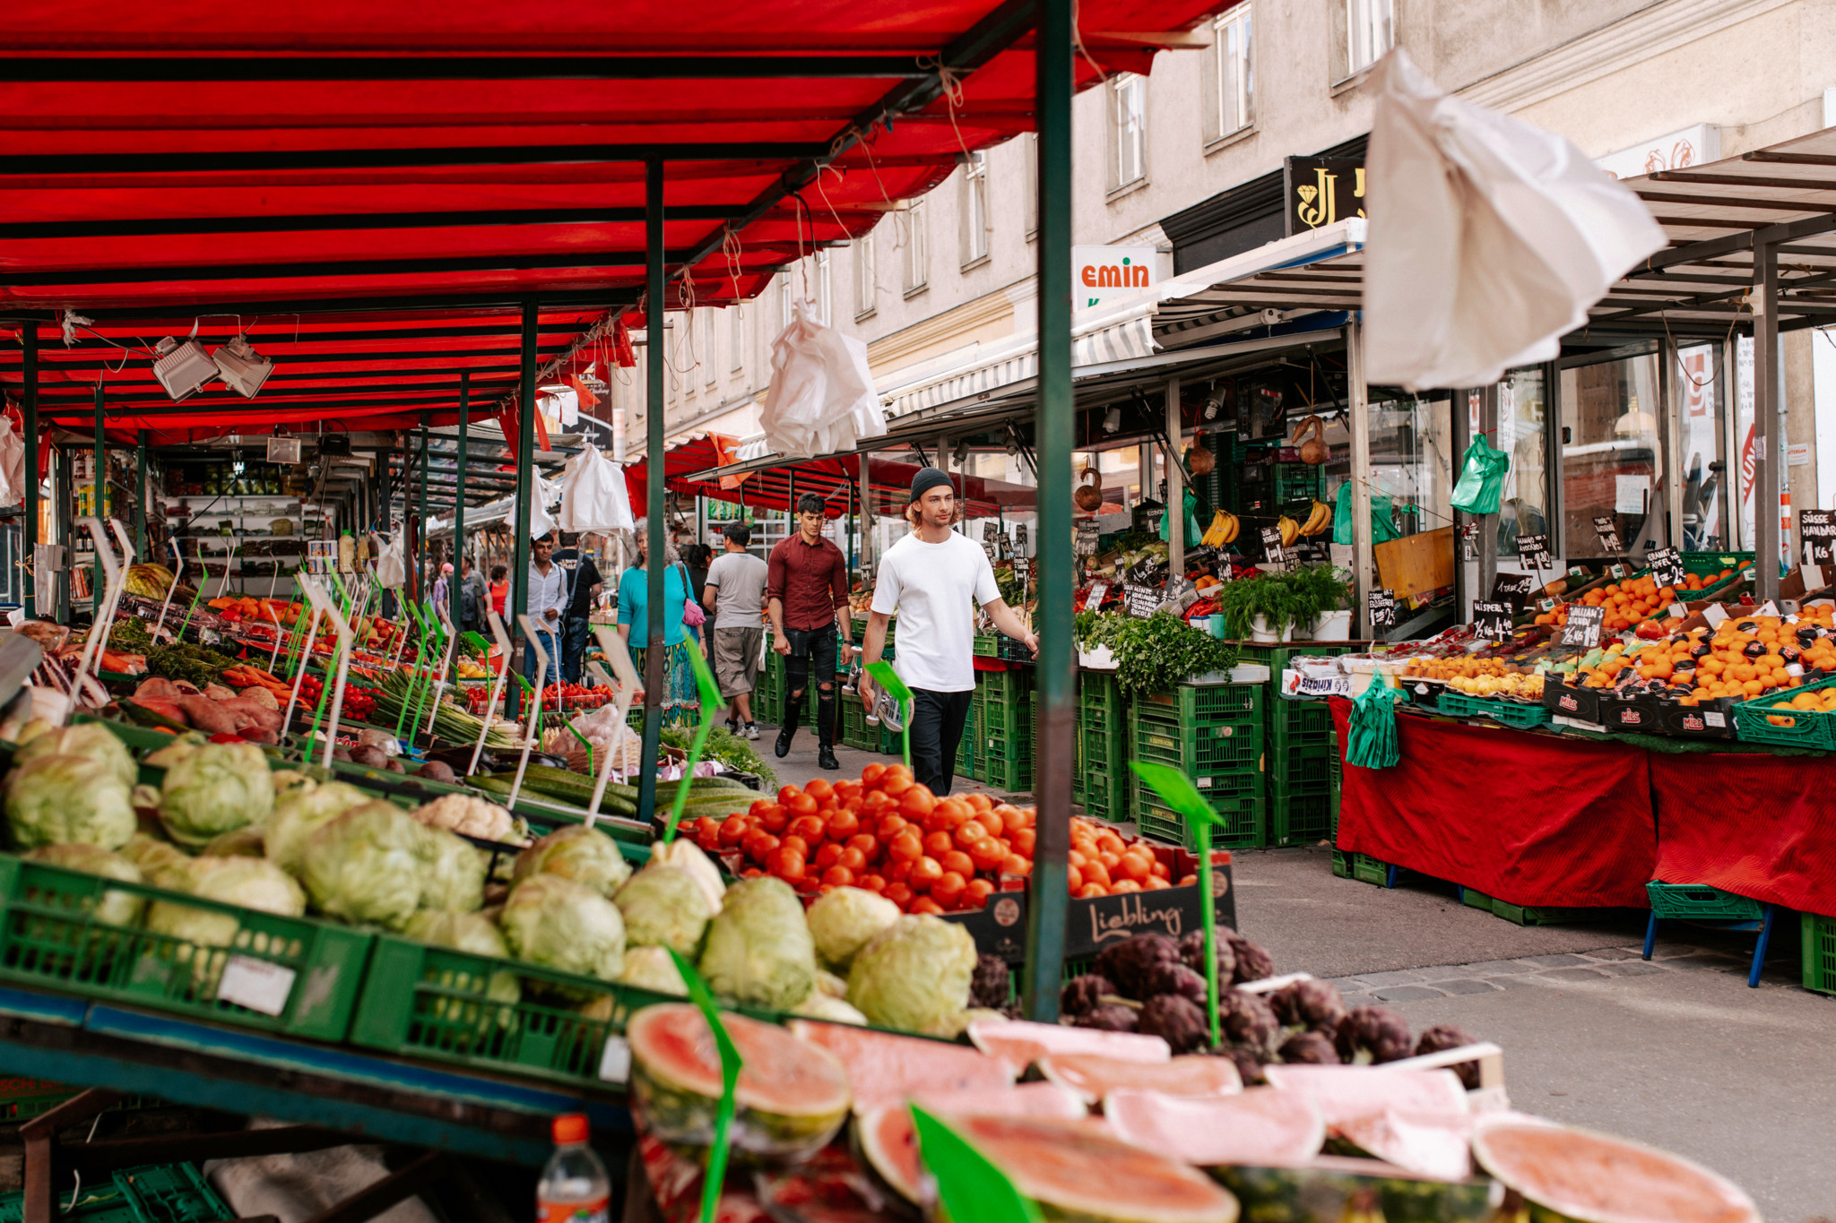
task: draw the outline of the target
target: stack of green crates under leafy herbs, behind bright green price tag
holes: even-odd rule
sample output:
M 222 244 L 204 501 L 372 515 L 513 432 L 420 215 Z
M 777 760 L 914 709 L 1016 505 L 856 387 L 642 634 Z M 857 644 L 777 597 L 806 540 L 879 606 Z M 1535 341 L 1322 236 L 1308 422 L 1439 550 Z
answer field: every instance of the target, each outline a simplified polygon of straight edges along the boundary
M 1160 761 L 1193 779 L 1221 823 L 1217 849 L 1256 849 L 1267 838 L 1263 794 L 1265 684 L 1179 684 L 1129 708 L 1129 759 Z M 1129 779 L 1142 836 L 1192 847 L 1195 831 L 1151 787 Z

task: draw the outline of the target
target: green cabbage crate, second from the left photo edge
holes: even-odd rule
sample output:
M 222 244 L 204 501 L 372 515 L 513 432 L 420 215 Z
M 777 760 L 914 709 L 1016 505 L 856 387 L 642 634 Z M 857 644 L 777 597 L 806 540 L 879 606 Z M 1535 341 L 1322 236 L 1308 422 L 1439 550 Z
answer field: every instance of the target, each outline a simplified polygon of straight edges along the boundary
M 518 1076 L 597 1084 L 633 1010 L 679 1001 L 628 985 L 376 937 L 351 1043 Z

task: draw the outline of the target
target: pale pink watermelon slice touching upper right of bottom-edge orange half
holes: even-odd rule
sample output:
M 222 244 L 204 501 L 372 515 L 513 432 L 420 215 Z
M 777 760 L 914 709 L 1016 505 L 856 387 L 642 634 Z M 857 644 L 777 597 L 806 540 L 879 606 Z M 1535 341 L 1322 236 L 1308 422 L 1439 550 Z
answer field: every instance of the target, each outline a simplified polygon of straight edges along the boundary
M 1201 1168 L 1300 1164 L 1326 1142 L 1326 1122 L 1313 1100 L 1274 1087 L 1210 1100 L 1111 1091 L 1103 1096 L 1103 1120 L 1124 1142 Z

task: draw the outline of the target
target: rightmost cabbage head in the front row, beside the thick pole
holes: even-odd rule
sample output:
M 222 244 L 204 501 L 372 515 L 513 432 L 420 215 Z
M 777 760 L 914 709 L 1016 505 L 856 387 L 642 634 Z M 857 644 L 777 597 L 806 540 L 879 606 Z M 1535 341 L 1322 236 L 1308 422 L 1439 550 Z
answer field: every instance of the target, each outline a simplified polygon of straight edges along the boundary
M 942 1030 L 969 1005 L 973 975 L 975 939 L 964 926 L 901 917 L 854 957 L 848 1001 L 879 1027 Z

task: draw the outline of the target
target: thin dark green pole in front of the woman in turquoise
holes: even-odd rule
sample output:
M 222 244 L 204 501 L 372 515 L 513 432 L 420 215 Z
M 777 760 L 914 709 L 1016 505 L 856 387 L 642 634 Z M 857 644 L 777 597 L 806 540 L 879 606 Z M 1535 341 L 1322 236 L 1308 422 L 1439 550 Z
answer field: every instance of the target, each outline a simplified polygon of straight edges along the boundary
M 637 818 L 657 805 L 657 739 L 663 737 L 663 163 L 644 163 L 644 746 Z

